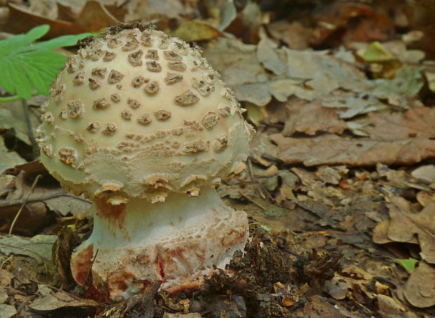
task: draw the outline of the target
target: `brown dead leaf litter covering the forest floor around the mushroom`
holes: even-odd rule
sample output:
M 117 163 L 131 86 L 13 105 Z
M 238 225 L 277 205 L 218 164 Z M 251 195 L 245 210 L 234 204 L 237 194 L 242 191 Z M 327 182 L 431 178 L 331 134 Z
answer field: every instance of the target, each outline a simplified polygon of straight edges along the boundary
M 91 232 L 89 203 L 39 164 L 23 164 L 27 127 L 17 105 L 1 105 L 1 158 L 12 155 L 0 175 L 1 317 L 434 314 L 434 54 L 417 4 L 331 1 L 314 14 L 251 1 L 44 2 L 10 4 L 8 21 L 18 23 L 9 32 L 28 31 L 23 17 L 51 25 L 48 37 L 153 20 L 200 41 L 257 128 L 248 169 L 218 189 L 248 212 L 250 241 L 231 276 L 217 272 L 193 293 L 169 296 L 154 284 L 108 302 L 77 286 L 69 258 Z M 399 262 L 408 259 L 409 272 Z

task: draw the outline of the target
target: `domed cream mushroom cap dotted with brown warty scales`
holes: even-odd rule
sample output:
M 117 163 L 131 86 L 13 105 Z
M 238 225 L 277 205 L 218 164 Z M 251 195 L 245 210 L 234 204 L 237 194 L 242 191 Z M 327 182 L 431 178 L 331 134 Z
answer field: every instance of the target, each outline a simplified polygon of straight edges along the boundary
M 36 130 L 41 161 L 75 194 L 122 203 L 243 171 L 255 131 L 198 48 L 124 29 L 68 58 Z

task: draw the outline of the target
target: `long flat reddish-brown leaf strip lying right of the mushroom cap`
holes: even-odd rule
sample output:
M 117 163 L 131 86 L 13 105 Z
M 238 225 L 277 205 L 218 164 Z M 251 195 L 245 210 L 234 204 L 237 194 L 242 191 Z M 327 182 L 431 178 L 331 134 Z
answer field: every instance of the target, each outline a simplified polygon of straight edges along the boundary
M 319 135 L 315 138 L 287 138 L 281 133 L 269 136 L 278 149 L 276 157 L 285 164 L 345 164 L 374 166 L 384 164 L 416 164 L 435 157 L 435 140 L 409 138 L 407 140 L 367 140 Z

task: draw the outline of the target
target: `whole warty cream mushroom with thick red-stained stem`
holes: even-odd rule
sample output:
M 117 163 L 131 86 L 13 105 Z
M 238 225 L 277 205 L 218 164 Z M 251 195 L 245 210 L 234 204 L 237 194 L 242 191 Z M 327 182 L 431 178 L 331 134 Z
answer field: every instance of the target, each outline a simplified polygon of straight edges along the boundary
M 110 298 L 152 281 L 194 289 L 243 250 L 246 213 L 215 187 L 243 171 L 255 131 L 197 48 L 109 29 L 69 58 L 45 109 L 41 162 L 93 202 L 93 232 L 71 260 L 79 284 L 92 277 Z

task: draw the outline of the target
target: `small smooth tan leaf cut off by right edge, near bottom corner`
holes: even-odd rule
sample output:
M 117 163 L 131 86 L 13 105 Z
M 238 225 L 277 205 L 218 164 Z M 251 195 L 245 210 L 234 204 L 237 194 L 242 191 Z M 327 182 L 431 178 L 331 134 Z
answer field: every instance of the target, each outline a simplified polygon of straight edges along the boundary
M 403 291 L 406 299 L 415 307 L 435 305 L 435 267 L 420 262 L 411 273 Z

